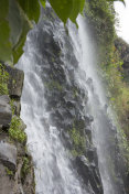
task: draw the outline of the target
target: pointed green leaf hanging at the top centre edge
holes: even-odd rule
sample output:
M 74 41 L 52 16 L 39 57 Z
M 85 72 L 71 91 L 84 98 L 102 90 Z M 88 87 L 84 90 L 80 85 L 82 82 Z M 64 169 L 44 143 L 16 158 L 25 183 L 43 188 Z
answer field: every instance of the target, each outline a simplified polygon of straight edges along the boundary
M 73 10 L 74 0 L 50 0 L 50 3 L 60 19 L 66 23 Z

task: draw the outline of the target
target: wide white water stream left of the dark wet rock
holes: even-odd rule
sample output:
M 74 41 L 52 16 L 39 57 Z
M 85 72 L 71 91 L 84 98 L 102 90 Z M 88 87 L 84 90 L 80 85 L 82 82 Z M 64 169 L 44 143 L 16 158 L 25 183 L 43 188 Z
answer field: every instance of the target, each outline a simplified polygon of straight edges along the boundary
M 26 125 L 28 147 L 34 161 L 36 194 L 88 194 L 71 165 L 58 130 L 50 126 L 42 67 L 37 64 L 42 56 L 37 53 L 39 47 L 34 46 L 39 29 L 35 28 L 33 33 L 35 37 L 31 39 L 31 33 L 28 36 L 25 53 L 18 66 L 24 71 L 21 118 Z

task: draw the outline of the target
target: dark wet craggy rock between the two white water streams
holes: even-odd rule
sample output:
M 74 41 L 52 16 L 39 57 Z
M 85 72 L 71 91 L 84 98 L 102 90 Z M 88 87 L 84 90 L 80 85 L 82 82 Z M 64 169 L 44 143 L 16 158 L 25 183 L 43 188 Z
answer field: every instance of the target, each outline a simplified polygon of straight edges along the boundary
M 46 15 L 51 21 L 53 20 L 47 9 L 44 11 L 44 18 Z M 31 39 L 36 39 L 34 46 L 42 56 L 42 63 L 41 58 L 37 62 L 44 83 L 46 110 L 51 115 L 50 122 L 60 130 L 61 140 L 73 155 L 73 165 L 84 180 L 84 184 L 89 187 L 89 193 L 94 191 L 96 194 L 103 194 L 97 154 L 92 140 L 90 126 L 94 118 L 85 114 L 87 90 L 76 80 L 77 71 L 82 76 L 86 75 L 78 68 L 68 35 L 64 35 L 64 42 L 55 39 L 54 28 L 57 26 L 58 20 L 54 23 L 47 20 L 42 22 L 39 24 L 36 36 L 33 32 L 30 35 Z M 84 155 L 85 160 L 89 161 L 88 165 L 79 155 Z

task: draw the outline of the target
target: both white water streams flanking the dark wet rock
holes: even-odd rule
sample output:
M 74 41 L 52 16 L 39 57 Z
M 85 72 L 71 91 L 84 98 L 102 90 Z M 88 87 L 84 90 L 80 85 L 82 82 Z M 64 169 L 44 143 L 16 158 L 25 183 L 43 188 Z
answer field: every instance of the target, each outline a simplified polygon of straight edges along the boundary
M 76 73 L 76 79 L 83 88 L 88 89 L 88 109 L 95 117 L 93 134 L 98 151 L 104 193 L 116 194 L 109 179 L 109 169 L 105 158 L 105 137 L 103 134 L 105 123 L 97 115 L 104 108 L 106 97 L 96 73 L 95 47 L 80 17 L 78 18 L 78 32 L 74 26 L 69 26 L 69 34 L 76 58 L 80 68 L 86 73 L 86 79 L 82 79 L 79 73 Z M 60 34 L 62 31 L 64 29 L 61 24 L 55 32 L 55 39 L 63 39 L 62 33 Z M 42 55 L 39 54 L 40 47 L 36 47 L 35 44 L 39 41 L 36 33 L 39 33 L 39 28 L 35 26 L 33 30 L 34 39 L 30 33 L 25 53 L 19 62 L 19 67 L 24 71 L 21 118 L 26 125 L 28 147 L 34 161 L 36 194 L 88 194 L 71 165 L 68 153 L 60 140 L 58 130 L 50 125 L 50 115 L 45 110 L 44 86 L 41 79 L 41 64 L 44 62 Z M 86 84 L 89 77 L 93 78 L 94 93 Z M 95 96 L 95 94 L 97 95 Z M 101 141 L 101 139 L 104 140 Z

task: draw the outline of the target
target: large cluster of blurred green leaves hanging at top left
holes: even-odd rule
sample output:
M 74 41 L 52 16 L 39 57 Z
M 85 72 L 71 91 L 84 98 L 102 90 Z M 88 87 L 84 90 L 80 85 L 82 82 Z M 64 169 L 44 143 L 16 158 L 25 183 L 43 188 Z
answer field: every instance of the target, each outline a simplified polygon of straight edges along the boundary
M 32 28 L 30 20 L 40 17 L 40 4 L 37 0 L 1 0 L 0 8 L 0 60 L 17 63 Z

